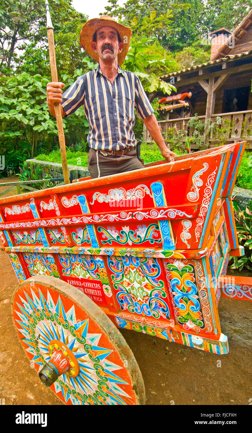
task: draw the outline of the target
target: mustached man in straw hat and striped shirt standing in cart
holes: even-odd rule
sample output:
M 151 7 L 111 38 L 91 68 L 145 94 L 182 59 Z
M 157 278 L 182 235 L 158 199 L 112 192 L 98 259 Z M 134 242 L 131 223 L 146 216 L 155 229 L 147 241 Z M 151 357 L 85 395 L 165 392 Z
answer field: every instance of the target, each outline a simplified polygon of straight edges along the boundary
M 65 117 L 84 104 L 90 125 L 87 140 L 91 178 L 144 167 L 136 156 L 134 107 L 161 155 L 168 162 L 176 156 L 166 147 L 139 78 L 119 66 L 128 52 L 131 35 L 130 27 L 116 23 L 110 16 L 90 19 L 80 32 L 80 45 L 99 62 L 98 68 L 79 77 L 64 94 L 63 83 L 47 85 L 47 104 L 53 116 L 56 102 L 61 104 Z

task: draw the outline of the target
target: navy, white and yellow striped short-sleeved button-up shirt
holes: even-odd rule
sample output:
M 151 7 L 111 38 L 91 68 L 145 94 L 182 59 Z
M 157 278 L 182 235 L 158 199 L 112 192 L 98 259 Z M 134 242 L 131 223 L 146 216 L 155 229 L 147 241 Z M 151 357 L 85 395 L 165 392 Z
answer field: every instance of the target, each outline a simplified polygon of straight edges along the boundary
M 66 117 L 84 105 L 89 121 L 89 147 L 96 150 L 121 150 L 136 145 L 133 132 L 134 107 L 141 119 L 154 110 L 142 84 L 133 72 L 118 73 L 113 83 L 106 78 L 100 66 L 81 75 L 63 94 L 62 107 Z

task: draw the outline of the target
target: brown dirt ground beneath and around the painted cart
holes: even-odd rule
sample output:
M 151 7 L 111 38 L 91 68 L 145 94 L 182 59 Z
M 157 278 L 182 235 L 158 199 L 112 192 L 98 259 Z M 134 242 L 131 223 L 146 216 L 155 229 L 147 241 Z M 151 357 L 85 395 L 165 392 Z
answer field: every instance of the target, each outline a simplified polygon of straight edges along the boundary
M 0 192 L 2 190 L 0 187 Z M 16 194 L 15 190 L 11 193 Z M 61 405 L 30 367 L 16 336 L 10 302 L 18 281 L 4 252 L 0 252 L 0 275 L 0 398 L 5 399 L 5 404 Z M 228 355 L 211 354 L 147 334 L 121 330 L 142 372 L 147 405 L 249 404 L 252 399 L 252 303 L 221 298 L 219 314 L 222 332 L 229 340 Z

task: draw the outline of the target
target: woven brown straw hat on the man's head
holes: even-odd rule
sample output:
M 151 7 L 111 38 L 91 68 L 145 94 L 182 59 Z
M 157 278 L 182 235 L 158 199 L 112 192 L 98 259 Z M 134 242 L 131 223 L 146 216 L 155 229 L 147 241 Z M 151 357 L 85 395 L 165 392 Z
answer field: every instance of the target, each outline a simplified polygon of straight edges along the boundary
M 121 65 L 128 52 L 132 32 L 130 27 L 117 23 L 115 19 L 109 15 L 102 15 L 100 18 L 89 19 L 89 21 L 84 24 L 80 32 L 80 45 L 93 57 L 94 60 L 97 61 L 97 63 L 99 63 L 98 54 L 94 52 L 91 44 L 96 30 L 105 26 L 113 27 L 113 29 L 117 30 L 121 37 L 121 41 L 124 42 L 124 47 L 121 53 L 118 53 L 117 57 L 118 65 Z

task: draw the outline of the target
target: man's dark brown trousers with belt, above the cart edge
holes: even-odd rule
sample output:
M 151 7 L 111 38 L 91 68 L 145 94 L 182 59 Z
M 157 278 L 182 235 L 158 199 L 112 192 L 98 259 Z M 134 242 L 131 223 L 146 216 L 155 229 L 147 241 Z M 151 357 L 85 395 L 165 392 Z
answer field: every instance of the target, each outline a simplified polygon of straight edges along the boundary
M 106 152 L 106 151 L 102 151 Z M 98 178 L 98 166 L 97 166 L 97 151 L 89 149 L 87 157 L 87 168 L 92 179 Z M 124 173 L 125 171 L 138 170 L 144 168 L 144 165 L 137 158 L 137 152 L 135 150 L 129 151 L 125 156 L 115 155 L 103 155 L 98 152 L 98 161 L 100 169 L 100 177 L 111 176 L 112 174 Z

